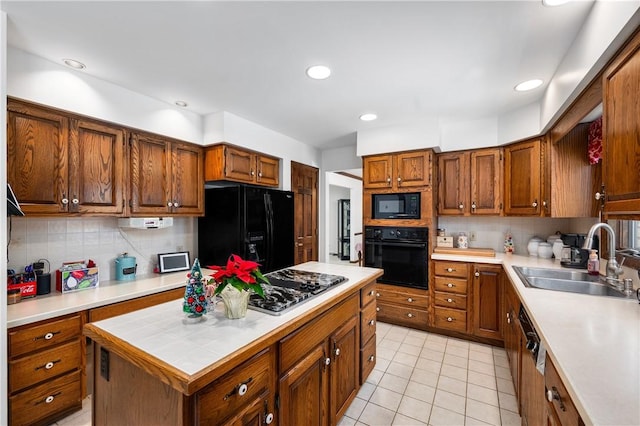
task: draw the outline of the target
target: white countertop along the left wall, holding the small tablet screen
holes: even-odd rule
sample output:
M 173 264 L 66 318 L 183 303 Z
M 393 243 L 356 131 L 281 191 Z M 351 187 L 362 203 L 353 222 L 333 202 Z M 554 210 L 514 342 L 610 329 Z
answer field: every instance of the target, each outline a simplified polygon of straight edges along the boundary
M 51 293 L 7 305 L 7 328 L 183 287 L 188 272 L 137 276 L 132 281 L 101 281 L 98 288 L 65 294 L 56 291 L 52 274 Z M 206 275 L 212 271 L 203 268 L 202 272 Z

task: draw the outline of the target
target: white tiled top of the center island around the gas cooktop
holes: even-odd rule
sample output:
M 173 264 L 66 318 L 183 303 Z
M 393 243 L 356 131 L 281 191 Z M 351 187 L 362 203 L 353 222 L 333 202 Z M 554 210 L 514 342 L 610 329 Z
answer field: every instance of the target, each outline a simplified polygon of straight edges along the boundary
M 343 275 L 348 281 L 320 293 L 282 315 L 247 310 L 242 319 L 227 319 L 222 302 L 199 322 L 191 322 L 182 312 L 182 300 L 174 300 L 125 315 L 92 323 L 100 333 L 108 333 L 141 349 L 159 361 L 180 370 L 195 380 L 199 374 L 228 360 L 239 349 L 287 326 L 311 309 L 339 295 L 353 291 L 382 275 L 381 269 L 350 265 L 307 262 L 293 268 L 311 272 Z M 132 327 L 131 324 L 136 324 Z M 197 355 L 194 355 L 197 354 Z

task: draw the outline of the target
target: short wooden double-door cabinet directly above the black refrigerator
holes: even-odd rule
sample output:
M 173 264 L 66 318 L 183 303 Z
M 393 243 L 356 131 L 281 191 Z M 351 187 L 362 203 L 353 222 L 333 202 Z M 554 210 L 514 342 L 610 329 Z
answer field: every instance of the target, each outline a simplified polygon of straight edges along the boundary
M 280 160 L 228 144 L 213 145 L 205 149 L 204 179 L 278 186 Z

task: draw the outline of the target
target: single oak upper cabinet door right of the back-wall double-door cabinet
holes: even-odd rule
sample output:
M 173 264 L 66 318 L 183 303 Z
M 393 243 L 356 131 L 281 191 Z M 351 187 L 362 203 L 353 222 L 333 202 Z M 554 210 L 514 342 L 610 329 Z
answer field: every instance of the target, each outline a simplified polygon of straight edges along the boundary
M 540 214 L 540 140 L 505 148 L 505 214 Z

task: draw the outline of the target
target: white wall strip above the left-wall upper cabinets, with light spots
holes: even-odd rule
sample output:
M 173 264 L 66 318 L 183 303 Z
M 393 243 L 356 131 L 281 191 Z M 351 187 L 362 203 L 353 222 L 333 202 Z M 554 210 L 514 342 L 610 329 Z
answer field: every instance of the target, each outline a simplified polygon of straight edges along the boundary
M 7 55 L 9 96 L 187 142 L 202 143 L 202 117 L 187 109 L 13 47 L 7 49 Z

